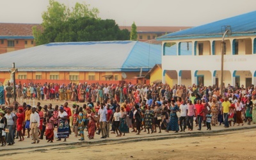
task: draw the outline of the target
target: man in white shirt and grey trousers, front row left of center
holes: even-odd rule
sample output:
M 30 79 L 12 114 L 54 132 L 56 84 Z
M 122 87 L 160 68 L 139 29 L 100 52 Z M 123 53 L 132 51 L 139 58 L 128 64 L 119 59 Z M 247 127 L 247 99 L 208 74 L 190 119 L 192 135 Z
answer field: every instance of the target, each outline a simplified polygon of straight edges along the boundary
M 104 108 L 104 104 L 100 103 L 100 109 L 98 111 L 101 138 L 107 138 L 106 122 L 107 122 L 108 110 Z

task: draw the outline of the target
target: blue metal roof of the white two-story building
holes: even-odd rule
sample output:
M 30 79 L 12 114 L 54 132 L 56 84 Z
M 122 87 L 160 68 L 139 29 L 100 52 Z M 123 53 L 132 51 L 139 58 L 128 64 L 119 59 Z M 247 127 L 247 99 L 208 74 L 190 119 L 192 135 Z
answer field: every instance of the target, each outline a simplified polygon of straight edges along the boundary
M 256 11 L 159 36 L 157 40 L 222 37 L 222 26 L 231 26 L 231 36 L 256 35 Z

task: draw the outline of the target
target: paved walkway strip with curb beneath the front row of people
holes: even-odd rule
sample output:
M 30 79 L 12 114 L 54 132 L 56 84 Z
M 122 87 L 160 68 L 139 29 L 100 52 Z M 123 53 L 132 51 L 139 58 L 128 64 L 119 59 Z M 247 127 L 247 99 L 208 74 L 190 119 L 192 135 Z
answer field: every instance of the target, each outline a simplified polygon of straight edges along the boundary
M 212 130 L 211 131 L 207 131 L 206 127 L 202 127 L 202 131 L 198 131 L 197 127 L 195 127 L 194 125 L 194 131 L 186 131 L 186 132 L 165 132 L 162 131 L 162 133 L 153 133 L 153 134 L 147 134 L 147 132 L 141 132 L 140 135 L 136 135 L 136 133 L 134 132 L 130 132 L 125 134 L 125 136 L 121 136 L 121 137 L 116 137 L 116 134 L 110 134 L 110 138 L 106 138 L 106 139 L 101 139 L 101 135 L 95 134 L 95 138 L 93 140 L 88 140 L 88 138 L 85 138 L 85 141 L 79 141 L 79 136 L 77 136 L 77 138 L 74 136 L 74 133 L 72 132 L 72 134 L 70 135 L 69 138 L 67 138 L 66 142 L 63 141 L 56 141 L 54 140 L 53 143 L 47 143 L 47 140 L 40 140 L 40 143 L 36 143 L 36 144 L 31 144 L 31 142 L 33 142 L 31 140 L 31 138 L 25 138 L 24 141 L 18 141 L 17 139 L 15 140 L 15 144 L 12 146 L 8 146 L 6 145 L 5 147 L 0 147 L 0 152 L 2 151 L 10 151 L 13 150 L 13 152 L 15 152 L 15 150 L 24 150 L 24 149 L 29 149 L 29 148 L 33 148 L 33 149 L 38 149 L 40 150 L 40 148 L 44 148 L 44 147 L 60 147 L 63 145 L 92 145 L 92 144 L 106 144 L 106 143 L 118 143 L 118 141 L 141 141 L 141 140 L 163 140 L 163 139 L 170 139 L 170 138 L 177 138 L 177 136 L 179 137 L 188 137 L 188 136 L 202 136 L 205 134 L 216 134 L 218 132 L 227 132 L 227 131 L 237 131 L 237 130 L 242 130 L 242 129 L 255 129 L 256 125 L 252 124 L 252 125 L 247 125 L 244 124 L 243 126 L 232 126 L 232 127 L 228 127 L 225 128 L 223 127 L 223 125 L 217 125 L 217 126 L 212 126 Z M 86 132 L 85 132 L 86 134 Z M 45 138 L 45 136 L 44 136 Z

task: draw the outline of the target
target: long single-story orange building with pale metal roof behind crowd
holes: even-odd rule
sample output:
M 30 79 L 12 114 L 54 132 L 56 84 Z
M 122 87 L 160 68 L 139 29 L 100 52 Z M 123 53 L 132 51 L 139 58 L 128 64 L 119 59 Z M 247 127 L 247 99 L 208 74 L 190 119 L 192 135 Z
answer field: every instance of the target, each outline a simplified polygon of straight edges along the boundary
M 0 54 L 0 81 L 10 79 L 12 63 L 19 83 L 145 83 L 161 63 L 161 45 L 137 41 L 65 42 Z

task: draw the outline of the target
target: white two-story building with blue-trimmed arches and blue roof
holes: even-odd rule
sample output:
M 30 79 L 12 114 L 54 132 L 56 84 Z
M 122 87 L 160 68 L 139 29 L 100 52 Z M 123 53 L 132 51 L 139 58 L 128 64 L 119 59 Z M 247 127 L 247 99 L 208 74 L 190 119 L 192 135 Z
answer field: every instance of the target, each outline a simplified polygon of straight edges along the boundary
M 256 84 L 256 12 L 237 15 L 209 24 L 160 36 L 162 41 L 163 83 L 166 72 L 177 75 L 175 84 L 221 84 L 221 54 L 223 49 L 223 83 L 225 86 Z M 230 27 L 229 27 L 230 26 Z M 228 34 L 223 37 L 226 29 Z M 224 42 L 221 45 L 221 42 Z M 176 44 L 176 54 L 168 54 L 170 44 Z M 191 45 L 184 54 L 182 44 Z M 184 75 L 184 71 L 189 73 Z M 173 76 L 175 77 L 175 76 Z M 186 77 L 186 78 L 184 78 Z

